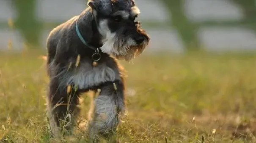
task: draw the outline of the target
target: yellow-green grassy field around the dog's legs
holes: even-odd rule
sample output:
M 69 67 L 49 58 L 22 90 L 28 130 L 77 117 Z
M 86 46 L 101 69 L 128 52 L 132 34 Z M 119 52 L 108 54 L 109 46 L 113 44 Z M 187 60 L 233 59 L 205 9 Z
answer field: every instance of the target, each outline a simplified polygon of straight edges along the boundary
M 0 53 L 0 138 L 6 143 L 50 142 L 42 55 Z M 129 111 L 118 128 L 121 143 L 256 142 L 256 53 L 145 53 L 121 63 Z M 83 98 L 86 115 L 88 95 Z M 85 140 L 77 133 L 63 142 Z

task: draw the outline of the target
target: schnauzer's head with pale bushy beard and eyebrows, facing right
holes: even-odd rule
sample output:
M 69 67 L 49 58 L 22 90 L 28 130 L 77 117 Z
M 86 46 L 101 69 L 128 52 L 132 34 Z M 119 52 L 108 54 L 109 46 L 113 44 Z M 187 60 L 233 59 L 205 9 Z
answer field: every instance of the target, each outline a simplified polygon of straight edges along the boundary
M 135 21 L 140 10 L 134 0 L 89 0 L 88 6 L 102 35 L 102 52 L 129 61 L 149 44 L 149 35 Z

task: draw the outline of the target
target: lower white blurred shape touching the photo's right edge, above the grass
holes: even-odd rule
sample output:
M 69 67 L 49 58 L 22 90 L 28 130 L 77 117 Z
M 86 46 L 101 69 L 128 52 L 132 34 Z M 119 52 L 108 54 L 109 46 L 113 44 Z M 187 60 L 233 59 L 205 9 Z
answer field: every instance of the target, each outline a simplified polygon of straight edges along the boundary
M 198 31 L 207 50 L 256 50 L 256 33 L 241 27 L 202 27 Z

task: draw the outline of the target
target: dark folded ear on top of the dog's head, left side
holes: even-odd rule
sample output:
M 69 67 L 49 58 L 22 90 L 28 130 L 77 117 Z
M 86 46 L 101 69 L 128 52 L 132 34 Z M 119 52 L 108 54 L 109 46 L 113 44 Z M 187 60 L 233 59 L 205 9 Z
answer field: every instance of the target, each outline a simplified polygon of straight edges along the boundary
M 112 12 L 111 0 L 88 0 L 87 5 L 103 15 L 110 15 Z

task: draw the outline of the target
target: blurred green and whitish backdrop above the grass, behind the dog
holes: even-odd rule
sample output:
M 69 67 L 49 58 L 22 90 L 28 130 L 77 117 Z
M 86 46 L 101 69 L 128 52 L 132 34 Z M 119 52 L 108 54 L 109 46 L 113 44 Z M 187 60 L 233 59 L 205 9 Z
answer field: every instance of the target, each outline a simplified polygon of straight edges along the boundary
M 149 50 L 256 49 L 256 0 L 136 0 Z M 44 48 L 50 30 L 87 0 L 0 0 L 0 49 Z

